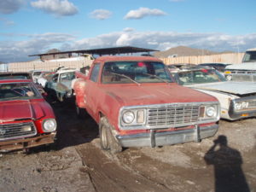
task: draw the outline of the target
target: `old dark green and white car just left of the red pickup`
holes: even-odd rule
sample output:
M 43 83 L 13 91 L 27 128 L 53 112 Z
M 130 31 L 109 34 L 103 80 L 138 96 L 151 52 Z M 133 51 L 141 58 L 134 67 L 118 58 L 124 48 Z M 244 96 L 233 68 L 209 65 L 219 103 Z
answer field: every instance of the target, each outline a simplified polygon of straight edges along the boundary
M 54 96 L 63 102 L 73 96 L 72 81 L 75 79 L 75 69 L 59 70 L 46 83 L 44 89 L 49 96 Z

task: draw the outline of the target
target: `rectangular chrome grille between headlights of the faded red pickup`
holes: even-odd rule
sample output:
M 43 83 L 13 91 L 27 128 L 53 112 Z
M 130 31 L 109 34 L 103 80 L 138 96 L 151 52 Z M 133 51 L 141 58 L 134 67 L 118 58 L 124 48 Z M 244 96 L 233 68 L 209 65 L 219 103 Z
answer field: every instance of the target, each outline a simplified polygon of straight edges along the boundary
M 147 125 L 157 126 L 183 126 L 191 125 L 200 119 L 200 105 L 178 103 L 158 108 L 148 108 Z

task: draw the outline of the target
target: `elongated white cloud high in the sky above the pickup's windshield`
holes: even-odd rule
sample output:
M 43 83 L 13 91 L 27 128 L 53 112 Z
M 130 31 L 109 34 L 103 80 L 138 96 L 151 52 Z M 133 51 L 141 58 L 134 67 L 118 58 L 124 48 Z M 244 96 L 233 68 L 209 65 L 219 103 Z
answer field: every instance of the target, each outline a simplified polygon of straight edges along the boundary
M 167 15 L 164 11 L 160 9 L 148 9 L 148 8 L 140 8 L 137 10 L 131 10 L 125 15 L 126 20 L 131 19 L 142 19 L 146 16 L 162 16 Z

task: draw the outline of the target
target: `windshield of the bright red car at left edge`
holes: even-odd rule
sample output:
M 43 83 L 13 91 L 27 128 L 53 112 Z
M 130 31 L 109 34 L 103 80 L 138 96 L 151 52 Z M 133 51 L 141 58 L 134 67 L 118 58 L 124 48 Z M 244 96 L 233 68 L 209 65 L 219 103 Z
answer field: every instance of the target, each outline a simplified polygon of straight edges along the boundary
M 0 101 L 40 97 L 40 94 L 31 83 L 0 84 Z

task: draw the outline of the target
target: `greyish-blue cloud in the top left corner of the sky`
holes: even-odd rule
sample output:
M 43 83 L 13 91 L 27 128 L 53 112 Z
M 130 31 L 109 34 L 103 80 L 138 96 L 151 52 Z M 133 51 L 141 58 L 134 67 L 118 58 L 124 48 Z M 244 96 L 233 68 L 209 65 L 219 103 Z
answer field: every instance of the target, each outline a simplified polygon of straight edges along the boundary
M 20 9 L 25 3 L 25 0 L 1 0 L 0 1 L 0 13 L 12 14 Z

